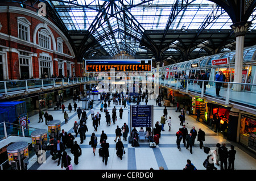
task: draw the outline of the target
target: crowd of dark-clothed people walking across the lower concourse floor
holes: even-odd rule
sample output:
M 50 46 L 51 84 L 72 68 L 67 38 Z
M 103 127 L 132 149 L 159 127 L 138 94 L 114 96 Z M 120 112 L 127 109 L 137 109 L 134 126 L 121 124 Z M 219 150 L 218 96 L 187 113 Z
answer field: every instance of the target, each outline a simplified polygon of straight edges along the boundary
M 143 96 L 143 94 L 139 94 L 139 96 L 136 97 L 136 99 L 140 99 L 140 101 L 143 101 L 146 103 L 147 97 Z M 159 106 L 159 102 L 161 102 L 163 99 L 161 96 L 156 98 L 156 104 Z M 113 105 L 111 106 L 111 103 L 113 101 Z M 67 133 L 64 131 L 64 129 L 61 131 L 59 136 L 56 138 L 51 137 L 49 144 L 51 145 L 51 155 L 52 159 L 58 159 L 57 165 L 59 166 L 61 163 L 61 168 L 65 167 L 66 169 L 71 169 L 70 165 L 72 158 L 67 154 L 68 148 L 70 148 L 71 154 L 73 154 L 73 159 L 75 165 L 79 164 L 79 157 L 82 155 L 82 149 L 80 148 L 79 144 L 77 143 L 76 137 L 80 137 L 80 144 L 84 143 L 84 140 L 86 139 L 86 132 L 88 132 L 88 127 L 90 129 L 90 126 L 88 126 L 88 122 L 92 123 L 92 127 L 94 128 L 94 132 L 89 138 L 89 145 L 93 149 L 93 155 L 96 155 L 96 148 L 98 145 L 100 145 L 100 148 L 98 149 L 98 152 L 100 156 L 102 157 L 102 162 L 105 162 L 105 165 L 108 163 L 108 157 L 109 157 L 109 143 L 107 142 L 108 136 L 107 134 L 102 130 L 100 140 L 98 141 L 98 138 L 96 136 L 96 132 L 98 131 L 98 126 L 101 124 L 106 125 L 106 127 L 109 127 L 110 125 L 115 125 L 116 121 L 118 119 L 118 112 L 119 112 L 119 119 L 122 119 L 123 115 L 123 108 L 120 107 L 119 110 L 117 109 L 117 105 L 124 106 L 126 104 L 129 104 L 130 102 L 133 102 L 133 98 L 130 98 L 129 96 L 123 96 L 123 94 L 113 94 L 112 100 L 110 99 L 110 94 L 101 94 L 101 103 L 100 103 L 100 111 L 96 112 L 93 107 L 90 107 L 89 114 L 91 116 L 91 121 L 88 121 L 88 113 L 86 113 L 85 110 L 82 110 L 80 107 L 77 107 L 76 99 L 74 99 L 73 106 L 71 103 L 68 104 L 67 108 L 69 112 L 73 111 L 73 108 L 75 112 L 77 113 L 77 117 L 79 121 L 75 121 L 73 124 L 73 132 L 75 133 L 72 135 L 71 133 Z M 136 102 L 135 102 L 136 103 Z M 177 105 L 178 108 L 179 104 Z M 119 107 L 119 106 L 118 106 Z M 65 123 L 68 123 L 68 113 L 65 111 L 64 103 L 61 105 L 61 109 L 64 113 L 64 120 Z M 190 151 L 192 154 L 193 146 L 195 144 L 195 140 L 197 137 L 197 141 L 199 141 L 200 149 L 205 148 L 204 141 L 205 141 L 205 132 L 199 128 L 198 131 L 195 129 L 195 127 L 192 127 L 192 129 L 188 132 L 188 129 L 186 128 L 185 123 L 185 109 L 182 108 L 180 111 L 181 115 L 179 116 L 180 119 L 180 126 L 179 131 L 176 132 L 176 145 L 179 150 L 181 150 L 181 141 L 183 141 L 184 148 Z M 154 136 L 156 134 L 159 135 L 159 138 L 161 136 L 161 132 L 165 131 L 165 124 L 168 126 L 168 131 L 171 131 L 171 125 L 172 125 L 172 118 L 170 116 L 170 112 L 168 112 L 167 107 L 163 108 L 163 115 L 160 116 L 160 122 L 156 121 L 154 131 L 152 132 L 151 128 L 146 128 L 146 138 L 150 142 L 154 142 Z M 51 121 L 52 118 L 49 117 L 49 113 L 46 111 L 43 113 L 43 111 L 39 110 L 39 118 L 43 121 L 43 116 L 45 117 L 46 124 L 48 121 Z M 103 121 L 102 121 L 103 119 Z M 40 123 L 39 120 L 39 123 Z M 125 148 L 123 146 L 122 141 L 127 141 L 128 133 L 129 133 L 129 127 L 126 123 L 122 125 L 122 127 L 119 127 L 119 125 L 115 125 L 115 139 L 116 142 L 115 150 L 117 156 L 122 159 L 123 154 L 125 154 Z M 141 128 L 142 131 L 143 128 Z M 141 131 L 140 130 L 140 131 Z M 137 130 L 134 128 L 132 132 L 137 132 Z M 133 135 L 133 133 L 132 133 Z M 121 138 L 123 137 L 123 139 Z M 221 169 L 234 169 L 234 158 L 235 158 L 236 150 L 234 150 L 234 146 L 232 145 L 230 147 L 230 150 L 226 148 L 225 144 L 216 145 L 216 149 L 214 152 L 215 157 L 212 155 L 208 155 L 207 159 L 204 165 L 207 170 L 217 169 L 214 166 L 213 158 L 215 158 L 215 164 L 220 165 Z M 220 162 L 220 164 L 219 164 Z M 195 170 L 196 167 L 191 163 L 191 161 L 187 160 L 187 165 L 185 166 L 184 170 Z

